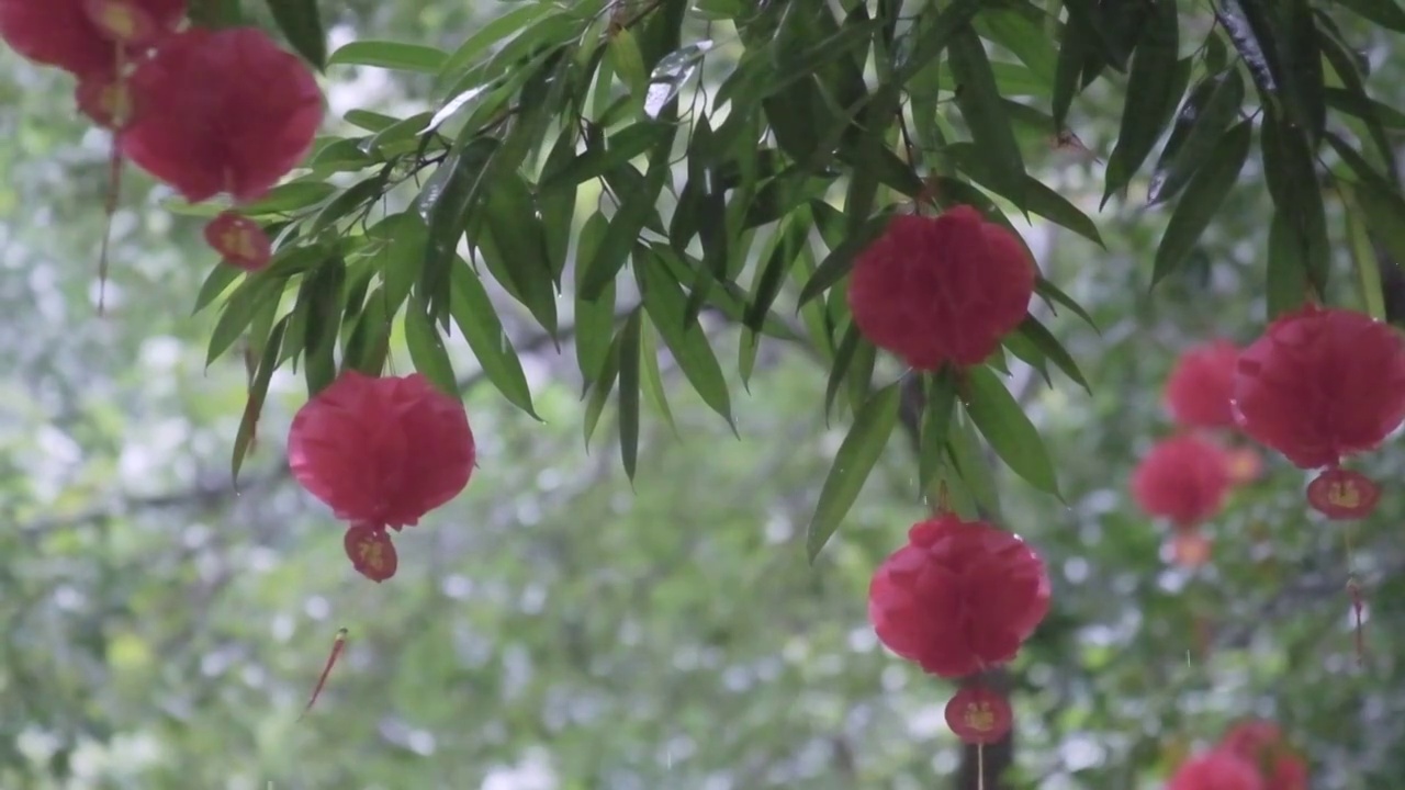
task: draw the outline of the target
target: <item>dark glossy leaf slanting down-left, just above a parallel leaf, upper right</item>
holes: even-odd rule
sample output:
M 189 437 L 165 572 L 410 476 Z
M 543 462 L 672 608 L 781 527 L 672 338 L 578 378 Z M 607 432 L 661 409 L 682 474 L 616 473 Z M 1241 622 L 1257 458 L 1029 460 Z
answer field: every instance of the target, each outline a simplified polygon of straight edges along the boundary
M 1146 202 L 1170 200 L 1190 177 L 1214 156 L 1225 129 L 1239 115 L 1243 104 L 1243 77 L 1238 69 L 1205 77 L 1186 100 L 1176 118 L 1172 139 L 1156 162 L 1146 191 Z M 1180 139 L 1177 141 L 1177 135 Z M 1179 143 L 1175 145 L 1173 143 Z

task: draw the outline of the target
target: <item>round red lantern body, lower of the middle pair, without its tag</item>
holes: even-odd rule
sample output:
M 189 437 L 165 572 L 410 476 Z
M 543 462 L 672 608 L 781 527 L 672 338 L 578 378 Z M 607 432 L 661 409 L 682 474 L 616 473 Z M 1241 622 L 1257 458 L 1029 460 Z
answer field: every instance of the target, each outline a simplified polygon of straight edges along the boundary
M 915 524 L 868 586 L 868 619 L 892 652 L 962 678 L 1014 658 L 1050 609 L 1044 561 L 985 522 Z

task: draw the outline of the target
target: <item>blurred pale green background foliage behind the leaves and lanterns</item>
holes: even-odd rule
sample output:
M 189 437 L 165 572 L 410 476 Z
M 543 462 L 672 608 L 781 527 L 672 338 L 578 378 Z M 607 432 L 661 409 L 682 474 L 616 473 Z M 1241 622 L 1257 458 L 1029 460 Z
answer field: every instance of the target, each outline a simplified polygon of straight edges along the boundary
M 504 7 L 353 1 L 330 35 L 452 46 Z M 1405 104 L 1398 39 L 1339 22 L 1374 96 Z M 327 76 L 334 114 L 414 111 L 424 87 L 375 69 Z M 805 561 L 846 427 L 826 425 L 813 354 L 767 346 L 749 388 L 732 382 L 739 437 L 666 370 L 677 433 L 645 420 L 631 486 L 613 412 L 583 446 L 570 349 L 500 298 L 544 422 L 452 347 L 482 468 L 398 543 L 400 574 L 371 585 L 330 514 L 289 484 L 282 439 L 305 399 L 294 374 L 275 375 L 232 486 L 246 374 L 236 358 L 205 368 L 212 318 L 188 318 L 215 260 L 200 221 L 163 211 L 169 195 L 140 176 L 115 216 L 110 315 L 94 315 L 107 142 L 70 91 L 0 53 L 0 787 L 905 790 L 954 772 L 948 689 L 885 655 L 865 620 L 868 575 L 924 512 L 908 444 L 894 439 L 844 529 Z M 1071 117 L 1103 159 L 1123 98 L 1113 82 Z M 1092 395 L 1020 365 L 1012 384 L 1069 505 L 993 472 L 1005 523 L 1057 586 L 1016 665 L 1012 786 L 1158 787 L 1256 714 L 1304 748 L 1314 789 L 1399 787 L 1405 498 L 1356 530 L 1350 566 L 1370 599 L 1357 669 L 1342 530 L 1305 513 L 1301 472 L 1267 458 L 1196 572 L 1168 565 L 1163 531 L 1127 496 L 1138 454 L 1170 430 L 1159 387 L 1175 354 L 1262 328 L 1262 171 L 1250 159 L 1194 266 L 1152 298 L 1168 212 L 1134 197 L 1094 214 L 1092 155 L 1050 145 L 1030 169 L 1096 216 L 1107 249 L 1020 225 L 1102 333 L 1050 319 Z M 1338 228 L 1340 207 L 1329 214 Z M 712 336 L 735 370 L 736 330 Z M 1405 454 L 1387 447 L 1367 471 L 1399 481 Z M 343 626 L 343 662 L 298 721 Z

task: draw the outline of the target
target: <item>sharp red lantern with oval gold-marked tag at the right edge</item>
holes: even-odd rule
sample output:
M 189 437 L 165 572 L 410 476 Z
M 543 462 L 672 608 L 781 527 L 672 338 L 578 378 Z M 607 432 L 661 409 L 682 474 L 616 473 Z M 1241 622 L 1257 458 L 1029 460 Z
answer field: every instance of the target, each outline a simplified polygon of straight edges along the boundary
M 1302 470 L 1325 468 L 1308 502 L 1329 517 L 1361 517 L 1380 492 L 1339 470 L 1405 420 L 1405 342 L 1359 312 L 1309 305 L 1274 320 L 1239 357 L 1235 419 Z M 1324 479 L 1325 478 L 1325 479 Z

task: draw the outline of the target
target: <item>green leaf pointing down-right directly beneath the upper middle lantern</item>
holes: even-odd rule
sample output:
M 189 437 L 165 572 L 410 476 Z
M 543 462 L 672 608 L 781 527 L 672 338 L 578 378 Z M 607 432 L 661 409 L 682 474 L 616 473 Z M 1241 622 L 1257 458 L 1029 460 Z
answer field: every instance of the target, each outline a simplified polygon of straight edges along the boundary
M 968 368 L 965 375 L 967 415 L 995 454 L 1034 488 L 1061 496 L 1044 440 L 1005 384 L 988 367 Z

